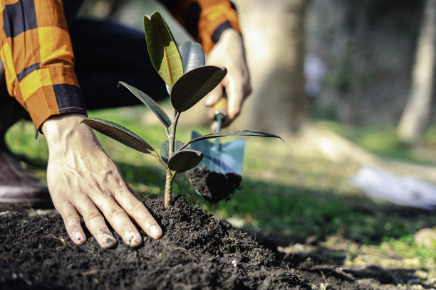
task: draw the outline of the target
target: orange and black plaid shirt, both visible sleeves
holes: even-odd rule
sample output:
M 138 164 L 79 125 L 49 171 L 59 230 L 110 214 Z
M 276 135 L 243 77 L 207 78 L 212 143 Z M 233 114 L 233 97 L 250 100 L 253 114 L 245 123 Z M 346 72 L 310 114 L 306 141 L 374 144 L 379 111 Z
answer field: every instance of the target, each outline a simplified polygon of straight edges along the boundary
M 222 31 L 239 31 L 228 0 L 161 2 L 206 53 Z M 28 110 L 36 129 L 56 114 L 85 114 L 62 1 L 0 0 L 0 11 L 0 58 L 8 92 Z

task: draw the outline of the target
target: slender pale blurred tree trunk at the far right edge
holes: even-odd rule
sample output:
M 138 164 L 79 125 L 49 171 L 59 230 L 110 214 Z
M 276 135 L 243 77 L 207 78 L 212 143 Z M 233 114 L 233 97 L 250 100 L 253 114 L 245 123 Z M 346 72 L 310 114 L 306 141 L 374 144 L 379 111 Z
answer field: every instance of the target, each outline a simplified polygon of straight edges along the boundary
M 398 124 L 398 136 L 408 144 L 420 140 L 430 117 L 435 78 L 435 38 L 436 0 L 427 0 L 422 14 L 409 97 Z

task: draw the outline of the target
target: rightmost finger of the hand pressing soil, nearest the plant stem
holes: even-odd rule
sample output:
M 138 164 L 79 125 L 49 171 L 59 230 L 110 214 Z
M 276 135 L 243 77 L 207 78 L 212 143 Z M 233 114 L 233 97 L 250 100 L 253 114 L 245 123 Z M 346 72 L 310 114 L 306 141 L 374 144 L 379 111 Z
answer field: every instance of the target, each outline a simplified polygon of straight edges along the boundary
M 115 195 L 116 200 L 124 208 L 125 212 L 133 218 L 135 222 L 145 231 L 145 233 L 153 239 L 162 237 L 162 229 L 152 217 L 150 212 L 145 208 L 135 196 L 131 194 Z

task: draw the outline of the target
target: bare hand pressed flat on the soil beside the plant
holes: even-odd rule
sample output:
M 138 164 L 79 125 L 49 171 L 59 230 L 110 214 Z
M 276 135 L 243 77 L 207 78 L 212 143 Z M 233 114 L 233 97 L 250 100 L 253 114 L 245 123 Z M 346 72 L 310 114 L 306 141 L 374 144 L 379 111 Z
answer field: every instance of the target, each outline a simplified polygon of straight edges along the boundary
M 160 238 L 159 225 L 129 190 L 93 130 L 80 124 L 84 118 L 65 114 L 47 119 L 42 126 L 49 151 L 48 190 L 71 240 L 77 245 L 86 241 L 79 214 L 103 248 L 116 245 L 103 216 L 130 247 L 142 242 L 132 220 L 150 237 Z

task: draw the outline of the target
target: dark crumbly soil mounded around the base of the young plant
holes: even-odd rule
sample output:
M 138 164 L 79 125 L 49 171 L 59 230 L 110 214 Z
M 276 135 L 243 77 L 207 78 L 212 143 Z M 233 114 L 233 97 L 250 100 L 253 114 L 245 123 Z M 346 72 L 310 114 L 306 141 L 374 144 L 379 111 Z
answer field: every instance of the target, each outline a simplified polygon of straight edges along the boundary
M 0 289 L 397 289 L 383 269 L 341 267 L 321 254 L 279 252 L 288 237 L 242 232 L 182 195 L 147 200 L 164 235 L 135 249 L 69 240 L 56 210 L 1 208 Z M 120 237 L 114 233 L 118 241 Z M 328 288 L 321 288 L 326 286 Z

